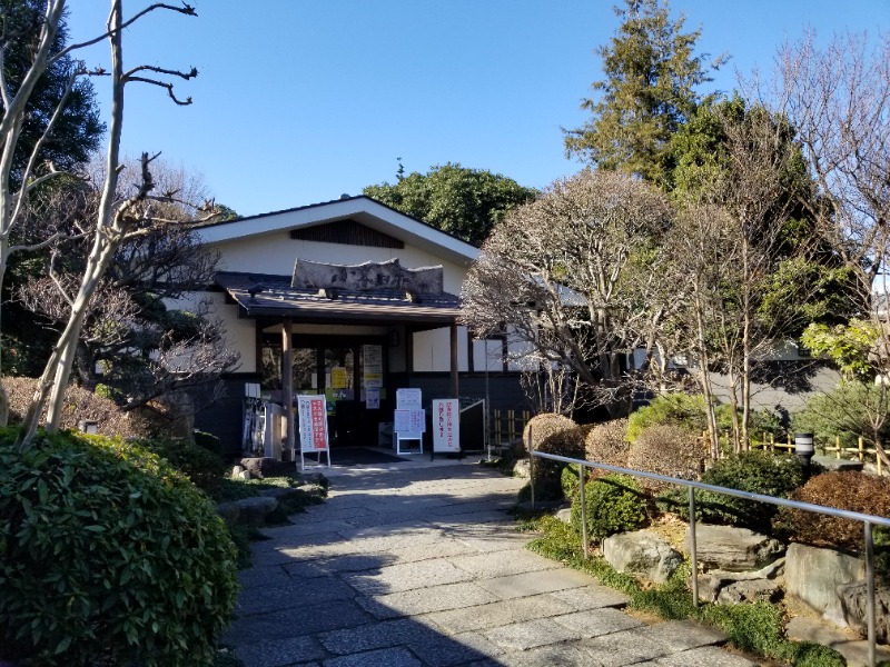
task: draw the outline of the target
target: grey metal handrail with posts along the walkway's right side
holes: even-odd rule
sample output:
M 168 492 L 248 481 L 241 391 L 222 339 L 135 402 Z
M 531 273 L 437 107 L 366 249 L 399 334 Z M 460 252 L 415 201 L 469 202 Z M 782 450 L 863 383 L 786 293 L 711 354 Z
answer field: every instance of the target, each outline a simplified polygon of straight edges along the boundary
M 775 496 L 765 496 L 763 494 L 752 494 L 750 491 L 742 491 L 739 489 L 731 489 L 728 487 L 714 486 L 711 484 L 703 484 L 701 481 L 693 481 L 691 479 L 680 479 L 678 477 L 668 477 L 666 475 L 657 475 L 656 472 L 644 472 L 642 470 L 634 470 L 632 468 L 621 468 L 619 466 L 610 466 L 607 464 L 596 464 L 593 461 L 571 458 L 567 456 L 560 456 L 556 454 L 547 454 L 545 451 L 535 451 L 532 448 L 532 434 L 528 429 L 527 446 L 530 452 L 530 466 L 532 476 L 532 509 L 535 507 L 534 494 L 534 458 L 545 458 L 563 464 L 572 464 L 578 466 L 578 481 L 581 484 L 581 525 L 582 525 L 582 552 L 584 558 L 587 558 L 587 512 L 586 504 L 584 502 L 584 468 L 597 468 L 600 470 L 609 470 L 610 472 L 619 472 L 621 475 L 630 475 L 633 477 L 643 477 L 645 479 L 653 479 L 655 481 L 663 481 L 666 484 L 674 484 L 685 486 L 689 488 L 689 508 L 690 508 L 690 561 L 692 567 L 692 604 L 699 606 L 699 567 L 698 567 L 698 546 L 695 541 L 695 489 L 702 491 L 713 491 L 715 494 L 723 494 L 724 496 L 734 496 L 736 498 L 745 498 L 748 500 L 756 500 L 758 502 L 769 502 L 771 505 L 779 505 L 781 507 L 791 507 L 794 509 L 802 509 L 804 511 L 814 511 L 818 514 L 838 517 L 841 519 L 850 519 L 853 521 L 862 521 L 864 526 L 866 537 L 866 588 L 868 594 L 868 631 L 869 631 L 869 666 L 876 665 L 876 606 L 874 606 L 874 547 L 872 540 L 872 527 L 886 526 L 890 528 L 890 518 L 879 517 L 876 515 L 867 515 L 858 511 L 850 511 L 847 509 L 837 509 L 834 507 L 824 507 L 822 505 L 813 505 L 812 502 L 801 502 L 799 500 L 789 500 L 788 498 L 777 498 Z

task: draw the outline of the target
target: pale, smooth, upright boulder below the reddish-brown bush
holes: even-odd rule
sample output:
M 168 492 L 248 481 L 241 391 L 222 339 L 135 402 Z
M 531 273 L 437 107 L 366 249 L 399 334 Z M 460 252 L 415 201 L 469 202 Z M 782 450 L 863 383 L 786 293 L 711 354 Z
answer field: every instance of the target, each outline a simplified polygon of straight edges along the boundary
M 838 587 L 861 581 L 866 565 L 853 556 L 792 544 L 785 556 L 785 589 L 823 617 L 847 626 Z

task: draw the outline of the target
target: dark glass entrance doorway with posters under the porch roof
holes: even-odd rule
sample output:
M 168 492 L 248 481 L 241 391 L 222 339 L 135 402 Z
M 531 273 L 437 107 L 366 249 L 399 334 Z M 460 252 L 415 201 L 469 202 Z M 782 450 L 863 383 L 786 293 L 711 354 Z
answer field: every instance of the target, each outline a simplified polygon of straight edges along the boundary
M 324 394 L 332 447 L 376 446 L 392 416 L 383 337 L 294 336 L 294 394 Z M 281 347 L 264 337 L 264 389 L 280 396 Z M 278 391 L 275 391 L 275 390 Z

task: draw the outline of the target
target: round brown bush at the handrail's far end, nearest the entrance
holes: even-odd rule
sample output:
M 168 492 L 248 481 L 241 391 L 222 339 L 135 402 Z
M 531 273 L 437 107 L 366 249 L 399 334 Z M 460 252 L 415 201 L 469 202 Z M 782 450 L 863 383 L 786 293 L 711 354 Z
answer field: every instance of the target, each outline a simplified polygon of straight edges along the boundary
M 523 441 L 528 442 L 531 430 L 532 449 L 570 458 L 584 458 L 584 439 L 578 426 L 562 415 L 537 415 L 523 430 Z M 561 474 L 565 464 L 535 458 L 532 464 L 532 484 L 535 495 L 542 500 L 556 499 L 562 495 Z

